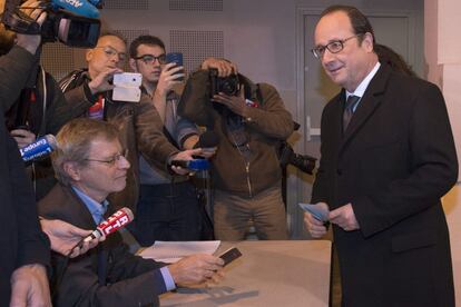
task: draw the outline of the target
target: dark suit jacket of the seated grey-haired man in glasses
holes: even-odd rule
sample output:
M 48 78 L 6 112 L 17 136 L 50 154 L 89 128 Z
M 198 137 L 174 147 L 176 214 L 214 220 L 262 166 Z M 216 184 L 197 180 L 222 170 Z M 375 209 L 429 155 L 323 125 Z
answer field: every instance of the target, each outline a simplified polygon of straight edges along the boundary
M 71 188 L 61 185 L 40 200 L 39 212 L 84 229 L 96 228 L 85 204 Z M 65 267 L 65 257 L 53 254 L 51 264 L 55 306 L 157 306 L 158 295 L 166 291 L 158 269 L 165 264 L 131 255 L 118 232 L 70 259 L 59 285 L 56 277 Z

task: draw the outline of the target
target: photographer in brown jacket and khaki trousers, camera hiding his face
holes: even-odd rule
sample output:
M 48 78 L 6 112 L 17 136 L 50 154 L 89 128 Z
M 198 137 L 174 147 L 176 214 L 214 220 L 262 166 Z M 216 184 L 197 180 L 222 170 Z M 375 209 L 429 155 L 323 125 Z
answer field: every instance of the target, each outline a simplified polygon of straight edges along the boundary
M 187 81 L 178 109 L 219 136 L 212 159 L 215 235 L 242 240 L 253 220 L 259 239 L 287 239 L 276 148 L 293 132 L 292 116 L 274 87 L 235 72 L 226 60 L 207 59 Z

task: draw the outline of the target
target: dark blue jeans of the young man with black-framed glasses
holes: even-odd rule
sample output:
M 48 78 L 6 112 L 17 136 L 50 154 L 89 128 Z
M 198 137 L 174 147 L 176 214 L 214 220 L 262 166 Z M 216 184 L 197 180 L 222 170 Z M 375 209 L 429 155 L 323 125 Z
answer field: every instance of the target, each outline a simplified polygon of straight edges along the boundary
M 186 181 L 141 185 L 135 220 L 128 229 L 141 246 L 156 240 L 200 239 L 202 211 L 195 187 Z

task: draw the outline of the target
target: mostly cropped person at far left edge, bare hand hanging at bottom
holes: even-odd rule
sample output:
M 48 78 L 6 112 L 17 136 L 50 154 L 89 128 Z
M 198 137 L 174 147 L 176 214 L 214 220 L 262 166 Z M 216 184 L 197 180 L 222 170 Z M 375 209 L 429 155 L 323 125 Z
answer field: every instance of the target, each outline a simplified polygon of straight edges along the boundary
M 28 1 L 24 6 L 29 6 Z M 41 24 L 46 13 L 24 13 Z M 27 82 L 40 36 L 18 34 L 17 46 L 0 58 L 1 120 Z M 46 266 L 49 247 L 40 231 L 33 191 L 27 179 L 18 147 L 6 126 L 0 126 L 0 306 L 51 306 Z M 11 300 L 10 300 L 11 298 Z

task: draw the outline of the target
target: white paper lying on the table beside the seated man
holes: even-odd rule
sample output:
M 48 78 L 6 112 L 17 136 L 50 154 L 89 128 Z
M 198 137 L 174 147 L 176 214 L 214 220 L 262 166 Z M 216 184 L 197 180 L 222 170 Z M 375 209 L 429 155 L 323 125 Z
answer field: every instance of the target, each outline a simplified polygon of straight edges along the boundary
M 155 259 L 156 261 L 173 264 L 183 257 L 194 254 L 213 255 L 219 247 L 220 241 L 156 241 L 153 246 L 144 249 L 139 256 Z

